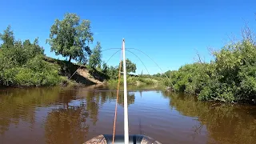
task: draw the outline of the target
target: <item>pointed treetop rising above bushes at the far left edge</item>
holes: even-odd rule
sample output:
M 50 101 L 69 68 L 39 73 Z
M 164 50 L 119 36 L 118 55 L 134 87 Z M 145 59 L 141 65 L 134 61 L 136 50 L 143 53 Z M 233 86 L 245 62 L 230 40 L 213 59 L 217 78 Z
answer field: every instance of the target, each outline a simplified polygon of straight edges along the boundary
M 13 30 L 10 30 L 10 26 L 7 26 L 3 34 L 0 33 L 0 39 L 3 42 L 1 48 L 10 48 L 11 46 L 14 46 L 14 32 Z

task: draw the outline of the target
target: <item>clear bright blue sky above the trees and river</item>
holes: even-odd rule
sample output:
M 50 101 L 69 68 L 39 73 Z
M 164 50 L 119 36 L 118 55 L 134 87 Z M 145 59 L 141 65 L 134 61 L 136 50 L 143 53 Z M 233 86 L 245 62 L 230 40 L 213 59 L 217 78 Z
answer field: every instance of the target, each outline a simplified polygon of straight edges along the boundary
M 0 5 L 0 30 L 12 26 L 15 38 L 24 40 L 39 38 L 47 56 L 61 58 L 50 52 L 46 44 L 54 19 L 62 19 L 66 13 L 76 13 L 91 21 L 94 43 L 101 42 L 102 50 L 121 47 L 122 38 L 127 48 L 137 48 L 148 54 L 163 71 L 178 70 L 202 55 L 210 61 L 208 48 L 220 49 L 229 37 L 241 38 L 245 22 L 254 30 L 256 2 L 231 0 L 194 1 L 2 1 Z M 102 53 L 107 60 L 116 50 Z M 146 65 L 150 74 L 162 72 L 142 53 L 133 50 Z M 118 65 L 120 53 L 108 62 Z M 130 52 L 126 58 L 137 64 L 137 73 L 146 74 L 142 62 Z M 61 58 L 63 59 L 63 58 Z

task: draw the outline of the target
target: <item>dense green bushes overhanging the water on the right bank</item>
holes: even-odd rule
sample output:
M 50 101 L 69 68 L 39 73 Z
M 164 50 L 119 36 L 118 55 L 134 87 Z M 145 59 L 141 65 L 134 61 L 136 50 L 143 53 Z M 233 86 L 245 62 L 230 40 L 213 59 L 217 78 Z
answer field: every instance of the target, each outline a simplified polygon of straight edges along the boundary
M 215 61 L 182 66 L 170 73 L 173 89 L 200 100 L 251 102 L 256 94 L 256 46 L 243 40 L 214 52 Z

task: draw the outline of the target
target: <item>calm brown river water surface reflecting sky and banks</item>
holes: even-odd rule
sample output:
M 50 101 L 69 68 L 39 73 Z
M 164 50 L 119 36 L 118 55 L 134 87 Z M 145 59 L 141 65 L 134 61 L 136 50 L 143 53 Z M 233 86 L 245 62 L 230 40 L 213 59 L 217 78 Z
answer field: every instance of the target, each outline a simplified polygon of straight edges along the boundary
M 119 93 L 116 134 L 123 134 Z M 256 107 L 129 90 L 130 134 L 170 143 L 256 143 Z M 82 143 L 113 134 L 116 91 L 104 87 L 0 89 L 0 143 Z

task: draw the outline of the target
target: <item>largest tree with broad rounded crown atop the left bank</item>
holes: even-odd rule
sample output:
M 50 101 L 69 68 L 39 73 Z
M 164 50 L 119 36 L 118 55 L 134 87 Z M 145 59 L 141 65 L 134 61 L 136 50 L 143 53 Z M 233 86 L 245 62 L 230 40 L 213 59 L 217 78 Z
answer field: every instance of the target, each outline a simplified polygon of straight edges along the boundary
M 50 38 L 46 43 L 50 44 L 50 50 L 55 54 L 68 57 L 69 62 L 71 59 L 86 62 L 86 56 L 91 53 L 89 43 L 93 41 L 89 20 L 80 22 L 77 14 L 65 14 L 62 21 L 56 19 L 50 27 Z

